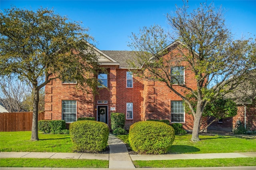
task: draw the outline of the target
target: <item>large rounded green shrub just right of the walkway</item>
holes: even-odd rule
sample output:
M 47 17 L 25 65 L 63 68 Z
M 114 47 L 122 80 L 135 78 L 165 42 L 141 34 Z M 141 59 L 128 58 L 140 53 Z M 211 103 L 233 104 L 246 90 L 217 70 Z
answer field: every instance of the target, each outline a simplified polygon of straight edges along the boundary
M 163 154 L 174 142 L 174 129 L 166 123 L 140 121 L 130 126 L 129 143 L 139 154 Z

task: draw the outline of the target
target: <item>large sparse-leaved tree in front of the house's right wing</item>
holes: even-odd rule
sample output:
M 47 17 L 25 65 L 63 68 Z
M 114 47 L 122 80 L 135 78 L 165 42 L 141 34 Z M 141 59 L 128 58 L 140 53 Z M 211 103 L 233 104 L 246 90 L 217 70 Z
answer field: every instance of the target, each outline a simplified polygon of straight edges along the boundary
M 171 32 L 166 33 L 164 28 L 154 25 L 130 36 L 129 46 L 136 57 L 129 63 L 137 68 L 132 71 L 138 76 L 166 83 L 183 99 L 194 117 L 191 140 L 196 142 L 199 141 L 200 119 L 208 103 L 234 89 L 246 71 L 255 67 L 255 40 L 234 40 L 224 24 L 221 8 L 214 8 L 212 3 L 200 4 L 190 12 L 184 2 L 182 8 L 177 7 L 174 14 L 167 15 L 167 20 Z M 176 48 L 182 57 L 177 57 L 176 53 L 166 55 L 170 40 L 178 42 Z M 167 57 L 162 57 L 164 55 Z M 184 62 L 188 65 L 182 65 Z M 174 66 L 186 66 L 184 69 L 194 73 L 196 93 L 189 84 L 179 83 L 172 76 L 170 68 Z M 176 82 L 184 89 L 182 92 L 173 86 Z M 186 97 L 189 93 L 196 97 L 196 110 Z

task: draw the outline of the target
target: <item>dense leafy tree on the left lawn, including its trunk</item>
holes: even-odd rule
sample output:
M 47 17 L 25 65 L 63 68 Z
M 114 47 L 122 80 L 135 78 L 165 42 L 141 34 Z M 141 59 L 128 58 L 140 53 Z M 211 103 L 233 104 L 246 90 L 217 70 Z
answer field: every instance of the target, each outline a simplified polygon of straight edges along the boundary
M 35 12 L 12 7 L 0 13 L 0 75 L 18 75 L 31 83 L 33 121 L 31 140 L 38 139 L 39 90 L 53 79 L 76 80 L 94 87 L 98 68 L 88 28 L 53 10 Z

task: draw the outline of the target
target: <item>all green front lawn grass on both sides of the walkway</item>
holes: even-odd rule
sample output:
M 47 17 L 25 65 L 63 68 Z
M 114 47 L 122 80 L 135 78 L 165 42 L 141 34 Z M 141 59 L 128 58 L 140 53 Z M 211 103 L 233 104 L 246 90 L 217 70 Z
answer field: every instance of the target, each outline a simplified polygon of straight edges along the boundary
M 1 152 L 73 152 L 68 134 L 39 134 L 39 141 L 30 141 L 31 132 L 0 132 Z M 128 134 L 118 135 L 125 143 Z M 256 138 L 239 136 L 203 136 L 199 142 L 190 141 L 191 134 L 176 135 L 170 154 L 256 152 Z M 256 166 L 256 158 L 225 158 L 202 160 L 152 160 L 134 161 L 139 167 L 206 167 L 206 166 Z M 59 167 L 107 168 L 106 160 L 2 158 L 0 167 Z

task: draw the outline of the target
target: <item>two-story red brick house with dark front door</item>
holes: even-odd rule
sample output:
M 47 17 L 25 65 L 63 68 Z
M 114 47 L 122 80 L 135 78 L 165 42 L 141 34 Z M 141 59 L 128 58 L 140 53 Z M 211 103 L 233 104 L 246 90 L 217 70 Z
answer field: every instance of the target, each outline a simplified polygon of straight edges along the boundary
M 179 43 L 174 42 L 167 47 L 170 53 L 180 53 L 177 45 Z M 170 91 L 165 83 L 140 79 L 129 72 L 126 61 L 132 59 L 134 52 L 94 49 L 100 54 L 98 62 L 108 72 L 98 72 L 98 95 L 76 90 L 75 81 L 62 82 L 54 79 L 45 87 L 46 120 L 64 120 L 66 123 L 72 123 L 78 117 L 95 117 L 97 121 L 110 126 L 110 115 L 117 112 L 126 115 L 126 129 L 133 123 L 147 119 L 168 119 L 172 123 L 182 123 L 186 130 L 193 129 L 192 115 L 184 112 L 182 99 Z M 182 83 L 196 89 L 194 73 L 189 69 L 185 70 L 185 66 L 188 66 L 188 63 L 182 61 L 173 69 L 180 73 L 177 76 Z M 181 93 L 184 90 L 178 85 L 173 86 Z

